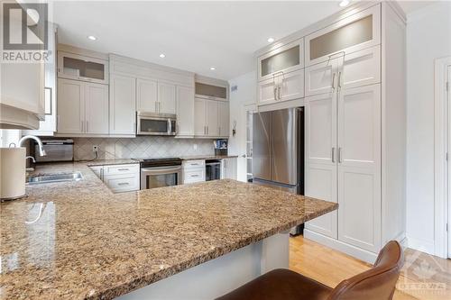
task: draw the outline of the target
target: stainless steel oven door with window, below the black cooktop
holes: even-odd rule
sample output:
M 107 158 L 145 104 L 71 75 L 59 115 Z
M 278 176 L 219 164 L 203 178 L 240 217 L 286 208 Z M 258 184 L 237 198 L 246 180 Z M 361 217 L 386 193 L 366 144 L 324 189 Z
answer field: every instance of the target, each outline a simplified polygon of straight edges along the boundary
M 141 168 L 141 189 L 178 186 L 180 181 L 181 166 Z

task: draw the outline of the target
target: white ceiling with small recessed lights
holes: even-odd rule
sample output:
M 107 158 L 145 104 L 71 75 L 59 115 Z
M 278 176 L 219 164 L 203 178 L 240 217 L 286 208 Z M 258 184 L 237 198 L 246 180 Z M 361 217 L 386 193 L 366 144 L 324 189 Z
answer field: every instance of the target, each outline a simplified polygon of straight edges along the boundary
M 53 3 L 52 15 L 59 42 L 231 79 L 253 69 L 253 51 L 269 37 L 280 39 L 340 9 L 336 0 L 64 1 Z

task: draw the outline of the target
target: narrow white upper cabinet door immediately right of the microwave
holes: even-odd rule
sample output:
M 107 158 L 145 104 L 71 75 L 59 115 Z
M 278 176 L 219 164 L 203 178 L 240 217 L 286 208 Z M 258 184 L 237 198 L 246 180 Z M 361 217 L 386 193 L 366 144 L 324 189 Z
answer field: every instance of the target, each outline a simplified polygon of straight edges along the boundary
M 177 135 L 194 135 L 194 88 L 177 86 Z

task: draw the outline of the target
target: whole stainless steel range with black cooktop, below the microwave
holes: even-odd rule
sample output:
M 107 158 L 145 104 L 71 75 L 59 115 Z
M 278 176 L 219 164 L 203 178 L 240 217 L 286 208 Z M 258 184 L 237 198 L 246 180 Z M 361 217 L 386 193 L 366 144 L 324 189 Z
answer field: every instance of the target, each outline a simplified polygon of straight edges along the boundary
M 181 159 L 136 159 L 141 166 L 141 189 L 181 184 Z

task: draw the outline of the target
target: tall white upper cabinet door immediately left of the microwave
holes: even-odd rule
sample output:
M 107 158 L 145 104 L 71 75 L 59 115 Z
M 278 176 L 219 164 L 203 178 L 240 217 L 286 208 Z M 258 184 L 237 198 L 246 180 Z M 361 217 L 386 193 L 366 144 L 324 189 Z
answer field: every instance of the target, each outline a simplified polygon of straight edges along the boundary
M 110 133 L 134 135 L 136 131 L 136 81 L 112 74 L 110 78 Z

